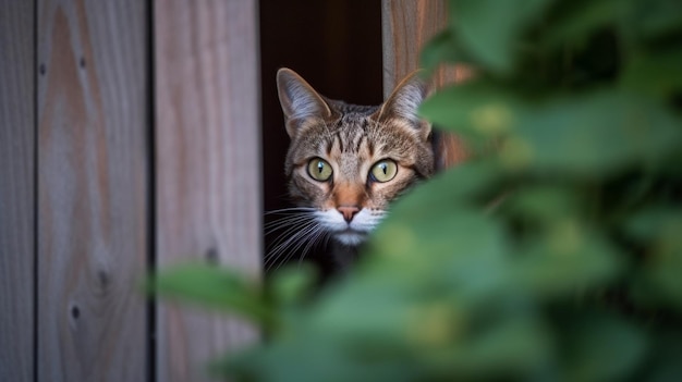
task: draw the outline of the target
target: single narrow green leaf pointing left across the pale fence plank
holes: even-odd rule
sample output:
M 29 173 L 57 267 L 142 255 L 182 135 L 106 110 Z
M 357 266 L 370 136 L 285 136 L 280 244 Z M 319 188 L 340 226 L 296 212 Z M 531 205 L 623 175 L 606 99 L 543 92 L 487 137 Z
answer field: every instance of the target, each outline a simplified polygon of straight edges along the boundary
M 206 264 L 182 264 L 160 271 L 148 289 L 162 298 L 180 299 L 241 315 L 271 324 L 273 313 L 257 282 L 228 269 Z

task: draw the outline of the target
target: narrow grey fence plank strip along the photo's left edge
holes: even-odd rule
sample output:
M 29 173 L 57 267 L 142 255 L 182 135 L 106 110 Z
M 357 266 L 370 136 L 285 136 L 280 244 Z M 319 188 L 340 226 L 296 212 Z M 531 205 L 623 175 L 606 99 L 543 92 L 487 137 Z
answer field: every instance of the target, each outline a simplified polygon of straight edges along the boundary
M 34 10 L 0 0 L 0 381 L 34 379 Z

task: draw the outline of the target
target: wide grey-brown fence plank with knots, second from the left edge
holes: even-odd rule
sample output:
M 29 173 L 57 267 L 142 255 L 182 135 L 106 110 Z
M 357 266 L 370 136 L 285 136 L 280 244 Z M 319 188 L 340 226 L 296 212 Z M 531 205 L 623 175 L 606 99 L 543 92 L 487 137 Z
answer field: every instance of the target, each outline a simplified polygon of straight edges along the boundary
M 141 381 L 144 1 L 38 3 L 38 379 Z

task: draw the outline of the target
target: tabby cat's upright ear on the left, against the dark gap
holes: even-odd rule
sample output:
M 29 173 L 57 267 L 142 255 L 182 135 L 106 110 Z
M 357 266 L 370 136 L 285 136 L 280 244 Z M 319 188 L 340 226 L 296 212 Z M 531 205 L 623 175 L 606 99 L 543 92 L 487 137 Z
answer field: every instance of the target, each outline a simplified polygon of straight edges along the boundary
M 287 133 L 294 137 L 301 123 L 313 118 L 329 118 L 325 99 L 296 72 L 282 67 L 277 72 L 277 93 L 284 112 Z

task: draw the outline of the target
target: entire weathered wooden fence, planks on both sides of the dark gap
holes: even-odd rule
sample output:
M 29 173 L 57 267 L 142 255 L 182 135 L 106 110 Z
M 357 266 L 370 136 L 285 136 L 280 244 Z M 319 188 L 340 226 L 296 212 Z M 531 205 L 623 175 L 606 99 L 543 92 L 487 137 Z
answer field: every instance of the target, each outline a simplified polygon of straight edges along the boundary
M 444 17 L 382 1 L 386 89 Z M 256 0 L 0 0 L 0 381 L 202 381 L 256 338 L 138 283 L 260 271 L 258 49 Z

